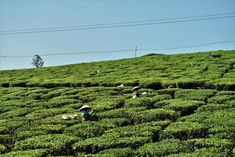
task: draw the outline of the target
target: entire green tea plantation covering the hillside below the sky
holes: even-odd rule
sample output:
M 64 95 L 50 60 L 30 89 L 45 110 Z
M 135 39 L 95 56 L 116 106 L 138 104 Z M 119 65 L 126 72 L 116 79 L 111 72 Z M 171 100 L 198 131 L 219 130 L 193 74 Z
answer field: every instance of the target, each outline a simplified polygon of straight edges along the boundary
M 235 156 L 235 50 L 0 71 L 0 156 Z

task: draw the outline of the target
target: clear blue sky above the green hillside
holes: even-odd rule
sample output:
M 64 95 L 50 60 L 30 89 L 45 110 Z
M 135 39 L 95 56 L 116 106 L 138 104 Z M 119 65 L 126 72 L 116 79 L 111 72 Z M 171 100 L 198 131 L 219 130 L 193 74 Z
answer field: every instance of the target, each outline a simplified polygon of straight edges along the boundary
M 0 0 L 0 70 L 234 49 L 234 0 Z

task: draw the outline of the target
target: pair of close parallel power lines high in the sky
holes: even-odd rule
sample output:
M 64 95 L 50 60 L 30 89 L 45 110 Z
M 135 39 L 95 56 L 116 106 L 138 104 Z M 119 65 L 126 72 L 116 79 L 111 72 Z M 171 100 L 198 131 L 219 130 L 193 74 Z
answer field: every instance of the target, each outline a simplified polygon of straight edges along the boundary
M 224 14 L 214 14 L 214 15 L 206 15 L 206 16 L 191 16 L 191 17 L 182 17 L 182 18 L 130 21 L 130 22 L 106 23 L 106 24 L 96 24 L 96 25 L 80 25 L 80 26 L 67 26 L 67 27 L 39 28 L 39 29 L 9 30 L 9 31 L 1 31 L 0 35 L 32 34 L 32 33 L 46 33 L 46 32 L 134 27 L 134 26 L 145 26 L 145 25 L 160 25 L 160 24 L 170 24 L 170 23 L 225 19 L 225 18 L 234 18 L 234 17 L 235 17 L 235 13 L 224 13 Z

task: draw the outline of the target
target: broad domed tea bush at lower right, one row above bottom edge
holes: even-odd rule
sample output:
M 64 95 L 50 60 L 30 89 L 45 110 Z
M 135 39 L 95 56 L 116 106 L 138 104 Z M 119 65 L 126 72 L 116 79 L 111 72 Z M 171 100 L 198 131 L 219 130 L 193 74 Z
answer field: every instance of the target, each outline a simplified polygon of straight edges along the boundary
M 162 139 L 191 139 L 207 137 L 208 129 L 197 122 L 171 123 L 161 134 Z

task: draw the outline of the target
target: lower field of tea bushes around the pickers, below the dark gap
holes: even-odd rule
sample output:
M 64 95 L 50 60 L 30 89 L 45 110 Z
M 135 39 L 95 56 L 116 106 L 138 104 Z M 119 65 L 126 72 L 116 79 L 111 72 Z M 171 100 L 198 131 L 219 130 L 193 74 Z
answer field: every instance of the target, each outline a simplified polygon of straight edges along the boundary
M 234 91 L 142 87 L 1 87 L 0 156 L 234 155 Z

